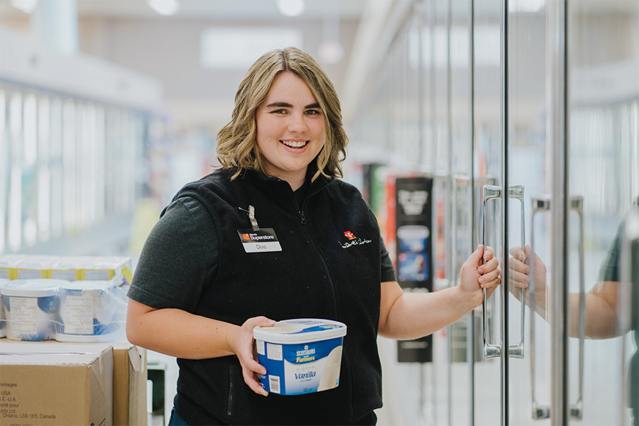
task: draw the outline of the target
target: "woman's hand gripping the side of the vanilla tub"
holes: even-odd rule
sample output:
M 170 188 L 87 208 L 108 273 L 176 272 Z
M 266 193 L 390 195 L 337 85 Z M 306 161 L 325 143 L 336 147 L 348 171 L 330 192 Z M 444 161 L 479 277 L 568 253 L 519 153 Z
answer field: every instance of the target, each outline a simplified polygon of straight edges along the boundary
M 253 317 L 246 320 L 242 326 L 237 329 L 229 339 L 229 348 L 236 354 L 237 359 L 242 366 L 242 376 L 244 383 L 251 390 L 259 395 L 268 395 L 268 392 L 262 388 L 259 380 L 259 374 L 266 374 L 266 368 L 258 364 L 256 361 L 255 344 L 253 341 L 253 329 L 255 327 L 271 327 L 275 321 L 269 320 L 267 317 Z

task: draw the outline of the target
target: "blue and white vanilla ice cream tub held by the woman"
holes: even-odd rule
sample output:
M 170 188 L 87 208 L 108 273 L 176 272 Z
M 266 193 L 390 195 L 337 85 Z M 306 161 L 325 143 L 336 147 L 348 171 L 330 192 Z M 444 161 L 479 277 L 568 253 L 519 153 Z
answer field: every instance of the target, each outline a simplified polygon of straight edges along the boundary
M 346 324 L 300 318 L 255 327 L 262 387 L 280 395 L 327 391 L 339 385 Z

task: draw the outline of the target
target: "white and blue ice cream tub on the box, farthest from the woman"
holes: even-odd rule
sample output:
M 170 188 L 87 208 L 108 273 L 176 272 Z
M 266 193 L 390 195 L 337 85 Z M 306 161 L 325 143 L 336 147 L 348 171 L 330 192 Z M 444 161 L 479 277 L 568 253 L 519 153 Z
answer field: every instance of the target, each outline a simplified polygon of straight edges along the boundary
M 33 278 L 13 280 L 0 287 L 4 301 L 6 337 L 14 340 L 49 340 L 55 334 L 60 311 L 60 286 L 65 280 Z

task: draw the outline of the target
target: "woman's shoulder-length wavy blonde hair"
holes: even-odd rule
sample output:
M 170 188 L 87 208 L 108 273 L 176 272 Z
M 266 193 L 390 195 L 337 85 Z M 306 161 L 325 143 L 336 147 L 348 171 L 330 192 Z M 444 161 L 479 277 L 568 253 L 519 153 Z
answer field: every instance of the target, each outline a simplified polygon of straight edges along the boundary
M 271 50 L 246 72 L 235 95 L 231 121 L 217 133 L 217 159 L 221 167 L 236 167 L 233 179 L 245 169 L 266 174 L 257 145 L 256 111 L 271 91 L 275 77 L 285 71 L 304 80 L 324 114 L 326 144 L 315 160 L 317 170 L 312 180 L 320 175 L 341 178 L 348 137 L 342 126 L 337 92 L 320 65 L 297 48 Z

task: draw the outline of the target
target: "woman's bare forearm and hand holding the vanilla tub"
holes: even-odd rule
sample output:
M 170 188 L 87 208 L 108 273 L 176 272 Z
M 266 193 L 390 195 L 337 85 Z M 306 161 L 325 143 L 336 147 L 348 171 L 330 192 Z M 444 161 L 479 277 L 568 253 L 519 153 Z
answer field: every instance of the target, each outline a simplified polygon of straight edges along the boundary
M 266 368 L 253 357 L 253 328 L 273 324 L 266 317 L 255 317 L 239 327 L 184 310 L 154 309 L 129 299 L 126 337 L 132 344 L 184 359 L 236 355 L 246 384 L 253 392 L 267 395 L 256 377 L 256 373 L 266 374 Z

